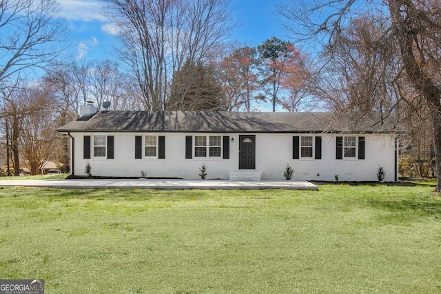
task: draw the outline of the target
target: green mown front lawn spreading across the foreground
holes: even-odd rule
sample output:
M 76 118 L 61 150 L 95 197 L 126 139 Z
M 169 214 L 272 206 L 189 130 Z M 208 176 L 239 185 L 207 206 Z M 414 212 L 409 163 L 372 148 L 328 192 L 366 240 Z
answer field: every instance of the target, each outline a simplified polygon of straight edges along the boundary
M 431 183 L 319 189 L 0 187 L 0 279 L 44 279 L 45 293 L 441 293 Z

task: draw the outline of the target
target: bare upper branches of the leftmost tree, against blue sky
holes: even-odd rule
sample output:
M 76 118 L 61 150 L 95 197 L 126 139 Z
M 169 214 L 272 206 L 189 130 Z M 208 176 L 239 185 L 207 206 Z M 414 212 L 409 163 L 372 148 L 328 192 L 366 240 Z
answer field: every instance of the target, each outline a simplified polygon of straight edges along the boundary
M 56 9 L 56 0 L 0 1 L 1 88 L 52 63 L 62 52 L 65 30 L 54 17 Z

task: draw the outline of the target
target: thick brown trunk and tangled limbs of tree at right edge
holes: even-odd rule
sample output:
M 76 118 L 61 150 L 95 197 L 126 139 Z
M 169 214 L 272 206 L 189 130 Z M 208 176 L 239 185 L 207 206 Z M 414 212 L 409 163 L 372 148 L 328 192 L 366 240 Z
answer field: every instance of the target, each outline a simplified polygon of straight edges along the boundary
M 441 192 L 441 3 L 389 0 L 388 5 L 402 67 L 431 110 L 436 191 Z

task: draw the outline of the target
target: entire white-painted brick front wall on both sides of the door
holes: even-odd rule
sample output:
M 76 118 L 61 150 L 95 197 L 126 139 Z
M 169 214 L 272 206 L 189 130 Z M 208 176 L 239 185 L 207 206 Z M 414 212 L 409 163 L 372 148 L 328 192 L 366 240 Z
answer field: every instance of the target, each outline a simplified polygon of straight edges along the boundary
M 198 179 L 199 168 L 207 166 L 207 178 L 228 179 L 229 171 L 238 171 L 239 134 L 217 134 L 229 136 L 229 159 L 195 158 L 185 159 L 185 136 L 203 134 L 164 133 L 165 159 L 135 159 L 134 133 L 106 133 L 114 136 L 114 159 L 93 158 L 93 136 L 96 134 L 75 133 L 74 174 L 85 175 L 87 162 L 92 166 L 93 176 L 140 177 L 141 170 L 148 177 Z M 216 135 L 216 134 L 206 134 Z M 262 172 L 262 180 L 285 180 L 283 171 L 287 164 L 294 169 L 293 180 L 376 181 L 378 167 L 384 167 L 386 181 L 395 180 L 395 137 L 393 135 L 363 134 L 365 136 L 365 159 L 336 160 L 336 136 L 334 134 L 255 134 L 256 171 Z M 83 136 L 91 136 L 90 159 L 83 159 Z M 321 136 L 322 159 L 292 159 L 293 136 Z M 345 136 L 345 134 L 338 134 Z M 359 136 L 359 135 L 349 135 Z M 234 138 L 234 142 L 231 139 Z M 194 151 L 194 143 L 193 143 Z

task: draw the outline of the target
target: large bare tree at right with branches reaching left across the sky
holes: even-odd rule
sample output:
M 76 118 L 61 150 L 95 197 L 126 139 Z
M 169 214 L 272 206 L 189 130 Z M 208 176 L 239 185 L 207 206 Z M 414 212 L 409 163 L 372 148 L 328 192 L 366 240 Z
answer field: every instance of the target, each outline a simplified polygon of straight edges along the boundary
M 360 13 L 366 13 L 363 8 L 376 11 L 383 23 L 387 25 L 382 30 L 382 36 L 389 43 L 387 48 L 397 52 L 399 60 L 396 68 L 405 74 L 408 86 L 413 87 L 420 97 L 427 103 L 433 130 L 433 147 L 436 162 L 438 184 L 435 191 L 441 191 L 441 77 L 440 55 L 441 39 L 441 3 L 439 0 L 384 0 L 367 1 L 360 3 L 356 0 L 337 0 L 307 2 L 296 1 L 291 9 L 279 9 L 287 20 L 287 27 L 296 25 L 296 32 L 303 32 L 302 37 L 314 38 L 317 42 L 327 41 L 323 47 L 331 56 L 336 45 L 341 40 L 342 32 L 353 19 Z M 358 5 L 356 5 L 358 4 Z M 375 8 L 375 9 L 372 9 Z M 294 10 L 295 9 L 295 10 Z M 322 14 L 323 11 L 329 12 Z M 307 16 L 302 17 L 300 13 Z M 320 19 L 321 15 L 325 15 Z M 314 16 L 314 17 L 313 17 Z M 304 21 L 304 25 L 300 23 Z M 302 25 L 299 29 L 298 25 Z M 294 30 L 291 30 L 294 34 Z M 305 38 L 303 38 L 305 39 Z M 322 43 L 323 44 L 323 43 Z M 369 65 L 371 66 L 371 65 Z M 393 87 L 394 90 L 406 89 L 404 86 Z M 388 90 L 390 91 L 390 90 Z M 399 92 L 398 92 L 399 93 Z M 400 96 L 402 101 L 406 97 Z M 413 107 L 413 101 L 406 101 Z M 394 105 L 396 103 L 390 103 Z M 399 104 L 397 104 L 399 105 Z M 401 107 L 401 106 L 400 106 Z M 400 107 L 396 109 L 399 110 Z M 382 109 L 380 109 L 382 110 Z M 414 111 L 418 109 L 413 108 Z

